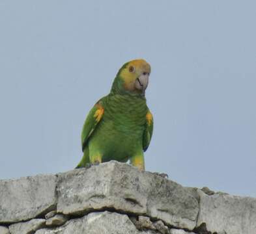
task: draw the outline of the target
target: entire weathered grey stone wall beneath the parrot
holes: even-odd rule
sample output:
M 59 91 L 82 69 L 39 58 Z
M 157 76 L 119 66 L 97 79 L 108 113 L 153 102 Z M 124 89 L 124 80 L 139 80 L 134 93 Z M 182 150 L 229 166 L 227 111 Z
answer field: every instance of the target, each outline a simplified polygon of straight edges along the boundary
M 256 234 L 256 198 L 120 162 L 0 181 L 0 234 Z

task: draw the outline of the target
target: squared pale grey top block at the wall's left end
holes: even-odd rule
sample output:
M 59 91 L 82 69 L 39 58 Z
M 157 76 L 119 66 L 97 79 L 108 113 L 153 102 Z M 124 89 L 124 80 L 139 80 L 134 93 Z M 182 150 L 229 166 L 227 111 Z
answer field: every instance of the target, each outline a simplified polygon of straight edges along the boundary
M 55 175 L 0 180 L 0 224 L 35 218 L 56 205 Z

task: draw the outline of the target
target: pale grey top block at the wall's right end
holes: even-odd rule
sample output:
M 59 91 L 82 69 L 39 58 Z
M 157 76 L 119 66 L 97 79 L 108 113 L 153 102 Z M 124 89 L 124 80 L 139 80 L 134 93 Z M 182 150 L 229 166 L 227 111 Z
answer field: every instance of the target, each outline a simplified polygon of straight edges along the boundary
M 212 233 L 255 234 L 256 198 L 228 194 L 200 195 L 200 211 L 197 226 L 206 224 Z

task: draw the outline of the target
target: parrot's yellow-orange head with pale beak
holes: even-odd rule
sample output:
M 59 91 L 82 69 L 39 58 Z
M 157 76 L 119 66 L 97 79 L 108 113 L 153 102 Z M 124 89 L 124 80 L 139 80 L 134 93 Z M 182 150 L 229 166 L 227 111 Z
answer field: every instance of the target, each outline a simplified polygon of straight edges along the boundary
M 111 92 L 144 95 L 149 84 L 150 65 L 143 59 L 126 62 L 120 68 Z

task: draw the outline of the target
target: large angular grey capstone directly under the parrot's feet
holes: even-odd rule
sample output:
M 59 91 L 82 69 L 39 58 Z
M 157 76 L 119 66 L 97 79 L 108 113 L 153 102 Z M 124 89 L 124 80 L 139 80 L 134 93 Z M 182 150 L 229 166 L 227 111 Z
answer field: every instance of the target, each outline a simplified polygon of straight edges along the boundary
M 111 207 L 124 212 L 146 213 L 147 203 L 143 194 L 138 194 L 139 185 L 132 184 L 129 175 L 122 175 L 126 170 L 117 162 L 109 162 L 59 174 L 57 212 L 83 214 Z M 134 194 L 137 189 L 139 191 Z

